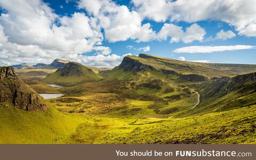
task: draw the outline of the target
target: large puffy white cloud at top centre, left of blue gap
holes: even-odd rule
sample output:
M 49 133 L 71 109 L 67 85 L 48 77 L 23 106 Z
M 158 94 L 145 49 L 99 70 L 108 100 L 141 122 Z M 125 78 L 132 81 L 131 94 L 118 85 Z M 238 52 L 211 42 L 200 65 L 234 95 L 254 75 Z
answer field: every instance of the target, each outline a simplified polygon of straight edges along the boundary
M 141 15 L 137 11 L 130 11 L 125 5 L 118 5 L 109 0 L 80 0 L 78 7 L 97 18 L 109 42 L 127 39 L 147 42 L 156 36 L 150 23 L 142 24 Z

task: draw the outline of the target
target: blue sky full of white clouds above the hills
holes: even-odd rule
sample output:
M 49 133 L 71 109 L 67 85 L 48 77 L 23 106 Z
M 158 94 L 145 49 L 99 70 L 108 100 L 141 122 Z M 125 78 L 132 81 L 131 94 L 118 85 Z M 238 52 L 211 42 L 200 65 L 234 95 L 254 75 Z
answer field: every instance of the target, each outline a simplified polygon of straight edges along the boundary
M 0 66 L 125 55 L 256 64 L 255 0 L 0 0 Z

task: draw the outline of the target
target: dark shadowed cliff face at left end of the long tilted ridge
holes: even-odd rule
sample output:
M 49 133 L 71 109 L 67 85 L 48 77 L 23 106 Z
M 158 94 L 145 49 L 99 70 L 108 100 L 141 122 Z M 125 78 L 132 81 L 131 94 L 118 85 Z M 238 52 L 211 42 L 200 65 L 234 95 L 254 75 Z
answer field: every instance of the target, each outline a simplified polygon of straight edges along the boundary
M 145 68 L 149 68 L 152 70 L 155 70 L 154 67 L 145 65 L 138 60 L 132 59 L 130 57 L 125 57 L 122 61 L 122 63 L 119 65 L 119 68 L 123 68 L 124 71 L 132 70 L 132 73 L 137 73 L 138 71 L 141 71 Z

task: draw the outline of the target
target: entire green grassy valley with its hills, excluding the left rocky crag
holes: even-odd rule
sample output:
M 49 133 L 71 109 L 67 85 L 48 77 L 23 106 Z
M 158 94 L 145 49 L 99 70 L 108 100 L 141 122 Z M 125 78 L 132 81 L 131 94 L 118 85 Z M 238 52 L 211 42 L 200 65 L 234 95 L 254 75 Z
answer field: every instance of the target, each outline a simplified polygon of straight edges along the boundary
M 33 93 L 64 96 L 37 95 L 45 111 L 1 100 L 0 143 L 256 143 L 256 65 L 140 54 L 111 70 L 67 62 L 15 73 L 1 74 L 3 87 L 19 77 Z

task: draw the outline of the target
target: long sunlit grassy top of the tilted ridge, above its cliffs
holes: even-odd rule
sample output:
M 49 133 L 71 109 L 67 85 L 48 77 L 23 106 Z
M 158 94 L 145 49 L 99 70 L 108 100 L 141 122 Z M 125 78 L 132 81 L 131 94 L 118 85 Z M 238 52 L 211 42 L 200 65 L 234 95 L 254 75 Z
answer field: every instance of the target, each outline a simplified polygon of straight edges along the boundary
M 179 61 L 154 55 L 140 54 L 139 57 L 129 55 L 131 59 L 137 60 L 145 65 L 157 69 L 174 70 L 181 74 L 198 74 L 206 76 L 234 76 L 256 71 L 256 65 L 222 64 L 222 63 L 197 63 Z

